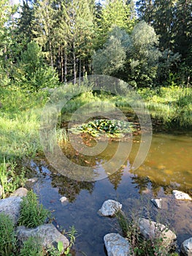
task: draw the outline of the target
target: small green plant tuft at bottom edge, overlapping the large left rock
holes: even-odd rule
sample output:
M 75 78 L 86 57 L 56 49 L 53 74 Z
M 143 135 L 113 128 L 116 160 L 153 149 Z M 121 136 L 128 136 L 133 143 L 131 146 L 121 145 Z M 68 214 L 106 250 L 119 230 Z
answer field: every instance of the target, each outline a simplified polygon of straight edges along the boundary
M 42 245 L 39 242 L 38 237 L 29 237 L 26 241 L 23 242 L 23 246 L 20 249 L 19 256 L 43 256 Z

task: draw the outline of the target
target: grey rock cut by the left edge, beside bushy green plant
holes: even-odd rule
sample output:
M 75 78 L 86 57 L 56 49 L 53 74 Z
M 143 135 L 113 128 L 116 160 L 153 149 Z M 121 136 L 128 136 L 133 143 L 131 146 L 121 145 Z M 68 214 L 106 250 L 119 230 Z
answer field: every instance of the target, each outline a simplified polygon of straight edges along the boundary
M 15 224 L 18 222 L 21 200 L 21 197 L 8 197 L 0 200 L 0 212 L 9 215 Z

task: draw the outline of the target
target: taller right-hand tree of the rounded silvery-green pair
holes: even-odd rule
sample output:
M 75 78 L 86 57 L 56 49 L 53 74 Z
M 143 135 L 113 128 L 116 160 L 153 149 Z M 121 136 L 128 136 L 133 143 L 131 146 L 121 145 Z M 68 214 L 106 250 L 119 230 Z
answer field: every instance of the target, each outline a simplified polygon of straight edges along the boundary
M 158 50 L 158 36 L 152 26 L 142 20 L 131 33 L 131 48 L 128 50 L 128 80 L 137 86 L 152 86 L 161 56 Z

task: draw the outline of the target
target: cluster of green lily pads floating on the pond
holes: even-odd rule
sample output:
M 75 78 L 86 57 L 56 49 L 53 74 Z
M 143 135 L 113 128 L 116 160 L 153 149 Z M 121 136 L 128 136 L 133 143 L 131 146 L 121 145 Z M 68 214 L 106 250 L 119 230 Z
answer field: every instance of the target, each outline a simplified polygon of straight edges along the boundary
M 134 130 L 131 122 L 109 119 L 96 119 L 81 125 L 74 125 L 69 129 L 74 134 L 85 133 L 93 137 L 107 135 L 112 138 L 123 137 Z

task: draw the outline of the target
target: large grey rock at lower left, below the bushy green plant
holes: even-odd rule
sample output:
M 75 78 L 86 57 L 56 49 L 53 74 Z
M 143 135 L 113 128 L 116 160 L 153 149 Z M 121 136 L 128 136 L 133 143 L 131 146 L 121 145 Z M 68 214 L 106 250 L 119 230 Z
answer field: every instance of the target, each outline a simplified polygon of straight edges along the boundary
M 16 234 L 18 241 L 23 243 L 29 237 L 38 237 L 42 243 L 42 246 L 46 249 L 50 246 L 57 247 L 58 241 L 62 241 L 64 244 L 64 249 L 69 246 L 69 240 L 62 235 L 53 224 L 40 225 L 35 228 L 27 228 L 24 226 L 17 227 Z

